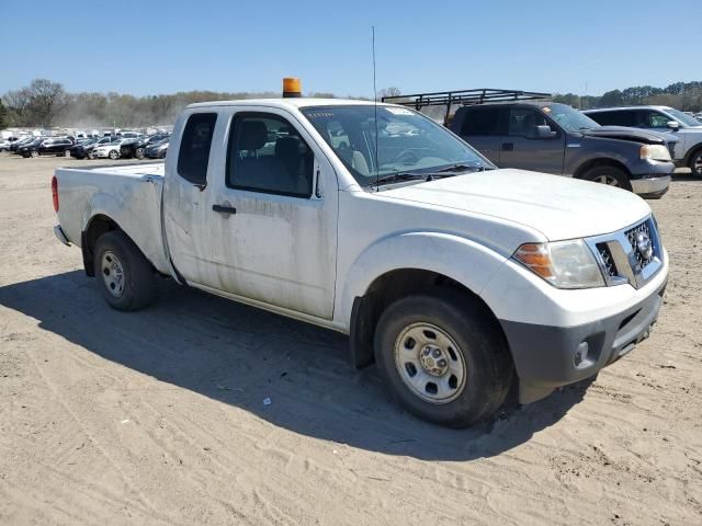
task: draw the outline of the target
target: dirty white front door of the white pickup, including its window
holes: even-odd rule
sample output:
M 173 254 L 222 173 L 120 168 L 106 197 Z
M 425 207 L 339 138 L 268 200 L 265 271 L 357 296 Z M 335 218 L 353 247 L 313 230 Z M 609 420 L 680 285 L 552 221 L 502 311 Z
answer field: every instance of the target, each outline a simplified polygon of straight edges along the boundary
M 207 188 L 210 287 L 331 319 L 338 182 L 283 110 L 230 110 Z

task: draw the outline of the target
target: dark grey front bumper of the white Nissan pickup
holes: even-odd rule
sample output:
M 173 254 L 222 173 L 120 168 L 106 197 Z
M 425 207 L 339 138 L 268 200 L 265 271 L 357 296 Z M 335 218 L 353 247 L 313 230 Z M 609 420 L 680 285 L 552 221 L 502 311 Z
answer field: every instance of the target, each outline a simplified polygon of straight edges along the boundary
M 616 315 L 580 325 L 500 320 L 520 379 L 520 402 L 540 400 L 557 387 L 595 376 L 631 352 L 648 338 L 666 284 Z

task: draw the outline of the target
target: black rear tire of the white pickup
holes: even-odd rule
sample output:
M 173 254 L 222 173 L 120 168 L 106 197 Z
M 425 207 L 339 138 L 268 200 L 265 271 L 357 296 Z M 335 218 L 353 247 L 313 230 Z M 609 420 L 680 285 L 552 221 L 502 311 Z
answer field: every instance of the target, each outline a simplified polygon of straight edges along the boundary
M 103 272 L 105 255 L 122 270 L 123 288 L 115 295 L 110 290 Z M 107 305 L 116 310 L 132 311 L 143 309 L 154 302 L 156 297 L 156 275 L 154 267 L 136 244 L 122 231 L 105 232 L 95 242 L 94 272 L 100 293 Z

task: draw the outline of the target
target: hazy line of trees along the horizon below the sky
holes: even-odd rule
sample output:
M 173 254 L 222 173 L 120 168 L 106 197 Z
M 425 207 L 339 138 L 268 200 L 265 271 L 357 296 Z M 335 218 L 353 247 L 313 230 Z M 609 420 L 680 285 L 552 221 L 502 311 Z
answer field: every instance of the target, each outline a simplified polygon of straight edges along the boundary
M 378 95 L 399 95 L 397 88 L 381 90 Z M 188 104 L 194 102 L 280 96 L 278 92 L 186 91 L 167 95 L 134 96 L 121 93 L 68 93 L 48 79 L 35 79 L 0 98 L 0 128 L 71 126 L 141 127 L 170 125 Z M 333 93 L 309 93 L 333 98 Z M 362 98 L 352 98 L 362 99 Z M 555 102 L 588 107 L 660 104 L 683 111 L 702 111 L 702 81 L 676 82 L 666 88 L 638 85 L 612 90 L 600 96 L 575 93 L 555 94 Z

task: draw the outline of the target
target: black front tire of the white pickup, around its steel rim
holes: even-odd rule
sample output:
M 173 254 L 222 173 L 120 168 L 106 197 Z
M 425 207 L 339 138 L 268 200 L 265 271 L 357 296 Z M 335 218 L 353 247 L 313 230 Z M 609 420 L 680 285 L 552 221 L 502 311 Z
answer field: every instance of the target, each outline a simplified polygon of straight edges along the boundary
M 396 366 L 395 346 L 399 345 L 400 335 L 423 323 L 445 332 L 463 356 L 465 384 L 451 401 L 423 400 L 400 376 L 401 366 Z M 483 306 L 460 291 L 441 289 L 440 294 L 419 294 L 395 301 L 378 320 L 374 344 L 375 361 L 390 395 L 420 419 L 467 427 L 497 411 L 510 390 L 513 365 L 500 328 Z M 421 352 L 420 345 L 417 356 Z

